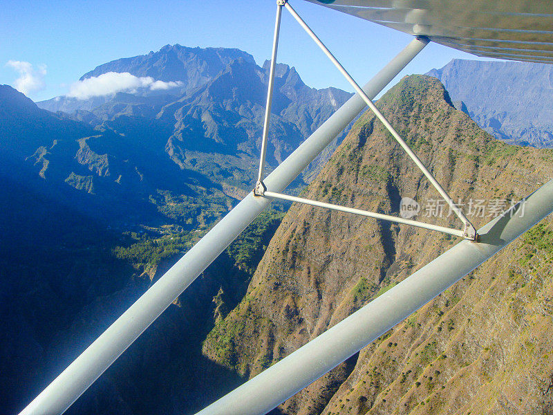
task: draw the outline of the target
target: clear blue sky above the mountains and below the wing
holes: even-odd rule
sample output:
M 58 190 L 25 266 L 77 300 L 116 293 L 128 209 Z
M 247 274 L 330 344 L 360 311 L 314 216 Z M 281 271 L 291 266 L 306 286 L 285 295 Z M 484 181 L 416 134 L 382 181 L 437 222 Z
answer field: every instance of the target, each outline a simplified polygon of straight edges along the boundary
M 411 37 L 303 0 L 292 6 L 360 84 L 398 53 Z M 166 44 L 223 46 L 270 57 L 274 0 L 13 1 L 0 14 L 0 84 L 16 85 L 29 62 L 35 101 L 64 95 L 97 65 L 159 50 Z M 431 44 L 400 74 L 424 73 L 472 55 Z M 352 91 L 328 59 L 283 10 L 279 62 L 295 66 L 306 84 Z

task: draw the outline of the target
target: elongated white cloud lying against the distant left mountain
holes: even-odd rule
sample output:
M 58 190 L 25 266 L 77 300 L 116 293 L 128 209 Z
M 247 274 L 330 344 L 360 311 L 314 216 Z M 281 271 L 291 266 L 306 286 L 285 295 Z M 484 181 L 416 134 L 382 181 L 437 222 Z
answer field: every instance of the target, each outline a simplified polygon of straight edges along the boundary
M 93 76 L 75 82 L 71 85 L 67 96 L 78 100 L 86 100 L 120 91 L 135 93 L 139 88 L 149 88 L 151 91 L 156 91 L 178 86 L 182 86 L 182 82 L 156 81 L 151 76 L 138 77 L 128 72 L 107 72 L 97 77 Z

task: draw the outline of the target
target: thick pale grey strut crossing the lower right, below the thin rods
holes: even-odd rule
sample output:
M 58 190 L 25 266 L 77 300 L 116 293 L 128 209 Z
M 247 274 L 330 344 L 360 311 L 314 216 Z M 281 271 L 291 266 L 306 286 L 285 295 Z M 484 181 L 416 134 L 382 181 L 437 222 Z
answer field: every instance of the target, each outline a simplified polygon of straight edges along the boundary
M 416 273 L 196 415 L 262 415 L 344 362 L 553 212 L 553 180 Z

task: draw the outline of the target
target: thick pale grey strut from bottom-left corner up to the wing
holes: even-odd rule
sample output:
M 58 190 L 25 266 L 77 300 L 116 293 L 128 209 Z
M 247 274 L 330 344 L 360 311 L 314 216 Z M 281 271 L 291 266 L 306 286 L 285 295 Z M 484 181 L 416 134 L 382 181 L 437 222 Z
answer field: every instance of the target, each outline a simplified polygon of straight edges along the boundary
M 427 39 L 413 39 L 366 84 L 365 93 L 374 98 L 427 44 Z M 353 95 L 274 169 L 265 183 L 273 190 L 283 190 L 364 107 L 364 100 L 358 94 Z M 270 199 L 248 194 L 32 400 L 21 415 L 64 413 L 269 204 Z

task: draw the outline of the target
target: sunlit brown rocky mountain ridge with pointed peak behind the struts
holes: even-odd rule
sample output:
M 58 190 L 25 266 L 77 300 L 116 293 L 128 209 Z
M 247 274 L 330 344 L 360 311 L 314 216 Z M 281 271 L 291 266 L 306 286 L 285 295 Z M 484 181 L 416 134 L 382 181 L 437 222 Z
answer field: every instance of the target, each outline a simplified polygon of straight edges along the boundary
M 453 107 L 434 78 L 404 78 L 379 107 L 453 199 L 467 203 L 477 228 L 497 214 L 493 205 L 507 208 L 553 174 L 551 151 L 492 138 Z M 459 225 L 447 207 L 435 215 L 437 192 L 371 114 L 359 119 L 304 196 L 388 214 L 398 214 L 408 196 L 422 205 L 418 219 Z M 553 373 L 551 232 L 544 221 L 279 410 L 545 411 Z M 292 205 L 245 297 L 207 335 L 203 353 L 254 376 L 453 243 L 444 234 Z

